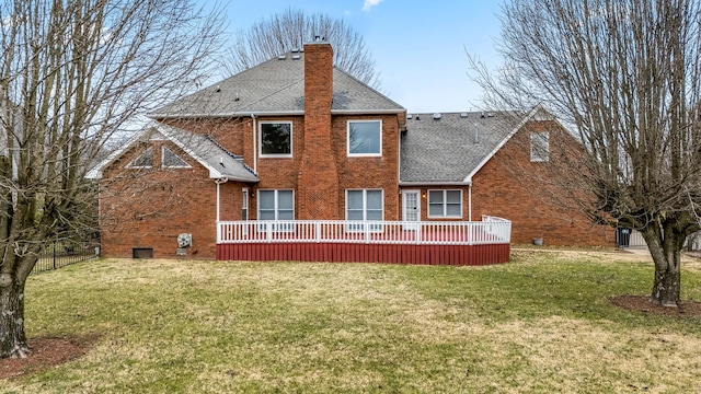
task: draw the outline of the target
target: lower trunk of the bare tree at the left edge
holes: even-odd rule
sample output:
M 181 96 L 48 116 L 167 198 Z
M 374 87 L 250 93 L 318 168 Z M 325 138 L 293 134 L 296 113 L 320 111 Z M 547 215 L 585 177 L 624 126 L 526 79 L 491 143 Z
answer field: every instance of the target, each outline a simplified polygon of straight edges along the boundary
M 25 358 L 30 351 L 24 335 L 24 283 L 0 275 L 0 358 Z

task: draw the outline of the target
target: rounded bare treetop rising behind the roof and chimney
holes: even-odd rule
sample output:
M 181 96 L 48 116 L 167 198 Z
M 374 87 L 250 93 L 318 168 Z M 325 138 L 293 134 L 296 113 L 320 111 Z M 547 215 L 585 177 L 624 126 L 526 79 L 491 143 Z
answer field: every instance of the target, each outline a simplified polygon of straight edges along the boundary
M 287 9 L 240 31 L 222 67 L 233 76 L 319 36 L 333 45 L 333 62 L 359 81 L 378 89 L 380 80 L 363 36 L 343 20 L 323 13 Z

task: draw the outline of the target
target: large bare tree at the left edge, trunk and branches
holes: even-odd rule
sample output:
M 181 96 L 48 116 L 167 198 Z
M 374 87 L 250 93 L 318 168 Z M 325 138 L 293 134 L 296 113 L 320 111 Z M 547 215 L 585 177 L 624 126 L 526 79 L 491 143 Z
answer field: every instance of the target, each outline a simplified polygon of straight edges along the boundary
M 197 84 L 216 14 L 189 0 L 0 4 L 0 357 L 28 351 L 24 286 L 42 243 L 92 225 L 90 164 L 125 123 Z

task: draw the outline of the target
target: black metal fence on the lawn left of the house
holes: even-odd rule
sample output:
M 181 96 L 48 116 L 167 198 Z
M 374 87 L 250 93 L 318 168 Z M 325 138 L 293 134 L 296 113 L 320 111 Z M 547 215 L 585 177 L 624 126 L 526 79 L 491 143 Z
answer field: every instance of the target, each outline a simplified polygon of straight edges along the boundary
M 100 240 L 58 240 L 47 242 L 32 274 L 58 269 L 71 264 L 100 257 Z

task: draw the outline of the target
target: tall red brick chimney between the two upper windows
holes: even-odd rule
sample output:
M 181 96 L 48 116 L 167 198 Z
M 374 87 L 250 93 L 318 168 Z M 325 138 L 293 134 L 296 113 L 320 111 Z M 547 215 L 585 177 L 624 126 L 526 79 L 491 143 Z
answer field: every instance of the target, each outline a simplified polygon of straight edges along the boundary
M 338 220 L 338 171 L 331 146 L 333 48 L 304 44 L 304 152 L 298 174 L 298 219 Z

